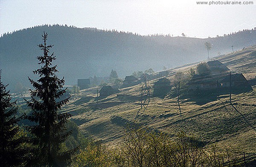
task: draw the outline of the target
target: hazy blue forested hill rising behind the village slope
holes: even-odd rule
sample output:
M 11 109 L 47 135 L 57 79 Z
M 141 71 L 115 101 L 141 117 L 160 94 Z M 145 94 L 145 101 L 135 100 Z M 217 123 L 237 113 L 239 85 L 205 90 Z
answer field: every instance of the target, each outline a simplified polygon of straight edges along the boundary
M 58 77 L 67 84 L 78 78 L 108 76 L 115 69 L 124 78 L 132 72 L 163 66 L 172 68 L 207 58 L 205 42 L 212 43 L 210 57 L 256 44 L 256 28 L 215 38 L 171 37 L 163 35 L 141 36 L 128 32 L 104 31 L 68 26 L 36 26 L 0 37 L 0 69 L 3 82 L 29 85 L 32 70 L 38 68 L 36 56 L 42 55 L 37 45 L 47 32 L 48 44 L 54 44 L 58 64 Z

